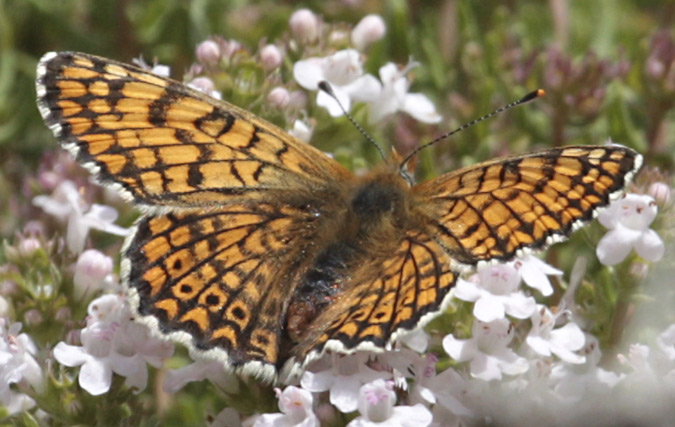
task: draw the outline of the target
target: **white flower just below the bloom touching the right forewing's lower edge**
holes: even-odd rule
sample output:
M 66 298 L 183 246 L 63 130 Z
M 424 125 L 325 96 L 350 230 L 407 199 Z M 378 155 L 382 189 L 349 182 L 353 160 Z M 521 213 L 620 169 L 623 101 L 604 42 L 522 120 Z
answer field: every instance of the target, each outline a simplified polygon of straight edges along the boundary
M 443 349 L 458 362 L 470 362 L 471 375 L 485 380 L 499 380 L 502 374 L 517 375 L 529 368 L 527 360 L 507 346 L 513 339 L 513 328 L 506 319 L 490 323 L 475 320 L 473 338 L 460 340 L 453 335 L 443 338 Z

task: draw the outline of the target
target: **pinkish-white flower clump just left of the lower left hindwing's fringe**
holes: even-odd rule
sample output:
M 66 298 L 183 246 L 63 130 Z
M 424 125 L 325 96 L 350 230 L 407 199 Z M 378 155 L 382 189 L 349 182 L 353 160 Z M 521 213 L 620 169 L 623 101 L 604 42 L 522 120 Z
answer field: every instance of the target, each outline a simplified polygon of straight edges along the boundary
M 127 386 L 143 390 L 148 380 L 146 363 L 160 367 L 173 353 L 173 346 L 150 337 L 147 327 L 131 319 L 125 298 L 103 295 L 95 299 L 80 333 L 82 347 L 60 342 L 54 358 L 66 366 L 81 366 L 80 386 L 92 395 L 110 389 L 113 372 L 126 377 Z

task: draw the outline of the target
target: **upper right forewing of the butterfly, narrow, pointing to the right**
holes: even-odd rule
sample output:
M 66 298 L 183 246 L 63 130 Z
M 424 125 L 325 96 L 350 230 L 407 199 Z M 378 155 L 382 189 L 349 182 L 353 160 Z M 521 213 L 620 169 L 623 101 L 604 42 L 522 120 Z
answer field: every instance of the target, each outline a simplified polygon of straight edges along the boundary
M 433 234 L 461 264 L 508 260 L 568 236 L 640 169 L 621 146 L 579 146 L 497 159 L 412 191 Z

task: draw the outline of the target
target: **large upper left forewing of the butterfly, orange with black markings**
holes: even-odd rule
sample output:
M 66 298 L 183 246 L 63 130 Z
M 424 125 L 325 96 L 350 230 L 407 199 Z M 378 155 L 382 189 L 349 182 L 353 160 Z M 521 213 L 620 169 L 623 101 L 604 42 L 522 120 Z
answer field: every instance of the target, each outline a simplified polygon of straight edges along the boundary
M 62 144 L 147 210 L 264 200 L 351 177 L 241 108 L 131 65 L 52 52 L 38 65 L 36 87 Z

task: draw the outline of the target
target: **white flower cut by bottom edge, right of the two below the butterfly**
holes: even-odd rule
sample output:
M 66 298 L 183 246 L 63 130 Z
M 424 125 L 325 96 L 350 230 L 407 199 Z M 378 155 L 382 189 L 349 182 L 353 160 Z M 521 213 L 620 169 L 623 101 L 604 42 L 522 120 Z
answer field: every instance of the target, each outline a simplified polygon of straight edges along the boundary
M 359 389 L 358 406 L 361 416 L 347 425 L 424 427 L 431 424 L 431 411 L 424 405 L 394 406 L 395 403 L 396 393 L 391 381 L 378 379 L 364 384 Z

